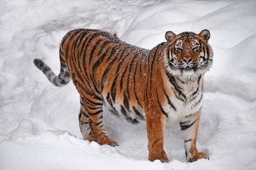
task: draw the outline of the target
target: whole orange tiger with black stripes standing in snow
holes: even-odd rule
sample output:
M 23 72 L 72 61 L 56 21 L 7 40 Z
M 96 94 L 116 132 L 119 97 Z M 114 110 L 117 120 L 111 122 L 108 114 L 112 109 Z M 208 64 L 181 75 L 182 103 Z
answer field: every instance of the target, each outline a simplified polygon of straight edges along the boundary
M 106 31 L 74 29 L 60 44 L 60 74 L 42 60 L 33 62 L 55 86 L 72 79 L 80 96 L 83 139 L 118 146 L 109 138 L 102 106 L 131 124 L 146 122 L 148 160 L 168 162 L 164 152 L 166 122 L 178 122 L 186 160 L 209 159 L 196 148 L 202 110 L 204 74 L 212 66 L 207 29 L 199 34 L 167 31 L 151 50 L 125 43 Z

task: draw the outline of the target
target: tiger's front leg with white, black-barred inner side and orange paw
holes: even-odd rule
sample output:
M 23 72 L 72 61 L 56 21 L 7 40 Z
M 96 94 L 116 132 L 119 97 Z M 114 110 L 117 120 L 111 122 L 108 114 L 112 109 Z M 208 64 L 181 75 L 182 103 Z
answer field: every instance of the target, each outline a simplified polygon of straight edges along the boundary
M 184 132 L 184 145 L 186 159 L 189 162 L 194 162 L 198 159 L 209 159 L 204 152 L 198 153 L 196 148 L 196 136 L 198 131 L 198 124 L 200 120 L 201 109 L 189 117 L 180 120 L 180 129 Z

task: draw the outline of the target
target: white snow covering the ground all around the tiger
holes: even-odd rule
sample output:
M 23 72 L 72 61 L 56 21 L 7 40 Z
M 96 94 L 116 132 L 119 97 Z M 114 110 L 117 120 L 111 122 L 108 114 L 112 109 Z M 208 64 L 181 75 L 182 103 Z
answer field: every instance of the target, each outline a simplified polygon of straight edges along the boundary
M 148 161 L 145 123 L 104 111 L 119 146 L 84 141 L 73 83 L 54 87 L 33 64 L 60 71 L 61 38 L 76 28 L 116 33 L 152 48 L 166 31 L 209 29 L 214 64 L 205 75 L 198 150 L 188 163 L 178 123 L 166 125 L 170 160 Z M 1 0 L 0 169 L 256 169 L 256 1 Z

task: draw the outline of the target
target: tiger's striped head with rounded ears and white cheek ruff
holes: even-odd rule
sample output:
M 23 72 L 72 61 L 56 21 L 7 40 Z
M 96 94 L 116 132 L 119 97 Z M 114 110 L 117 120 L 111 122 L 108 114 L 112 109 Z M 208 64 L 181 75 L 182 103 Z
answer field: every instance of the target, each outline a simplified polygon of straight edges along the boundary
M 211 34 L 204 29 L 199 34 L 172 31 L 165 34 L 168 45 L 164 50 L 164 64 L 168 74 L 180 78 L 200 76 L 212 66 L 212 48 L 208 44 Z

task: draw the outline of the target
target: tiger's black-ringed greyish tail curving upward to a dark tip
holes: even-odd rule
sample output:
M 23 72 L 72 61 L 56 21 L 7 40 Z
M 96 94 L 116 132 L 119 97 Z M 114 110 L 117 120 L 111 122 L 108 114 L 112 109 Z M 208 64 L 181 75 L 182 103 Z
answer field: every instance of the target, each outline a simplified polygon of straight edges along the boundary
M 47 64 L 45 64 L 42 60 L 35 59 L 34 64 L 36 67 L 38 67 L 38 69 L 40 69 L 45 74 L 48 80 L 57 87 L 67 85 L 67 83 L 69 83 L 69 81 L 71 80 L 66 62 L 63 59 L 61 59 L 61 69 L 60 74 L 58 76 L 56 76 L 56 74 L 53 73 L 52 69 L 49 66 L 47 66 Z

